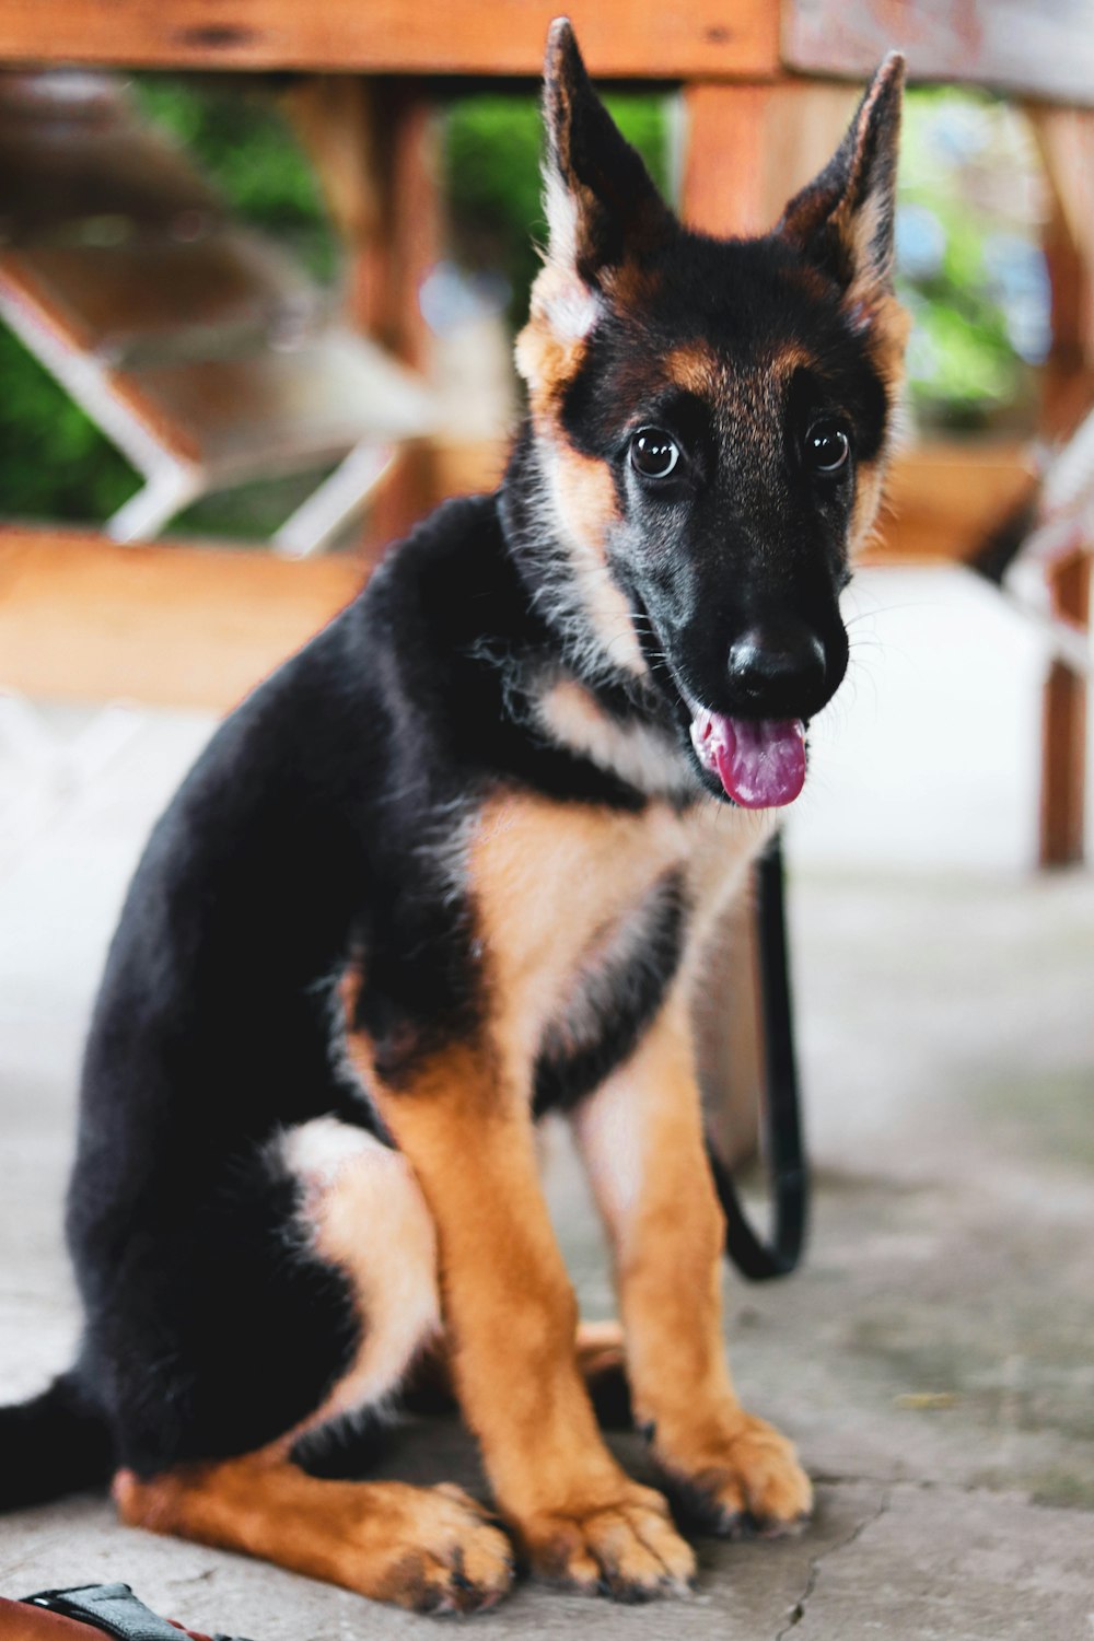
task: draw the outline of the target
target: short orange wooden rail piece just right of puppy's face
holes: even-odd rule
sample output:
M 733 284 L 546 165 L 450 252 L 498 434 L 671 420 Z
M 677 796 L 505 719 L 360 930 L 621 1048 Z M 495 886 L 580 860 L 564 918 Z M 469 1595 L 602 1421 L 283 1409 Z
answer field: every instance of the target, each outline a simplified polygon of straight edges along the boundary
M 966 561 L 1033 484 L 1025 446 L 1010 441 L 909 450 L 892 466 L 877 542 L 863 561 Z

